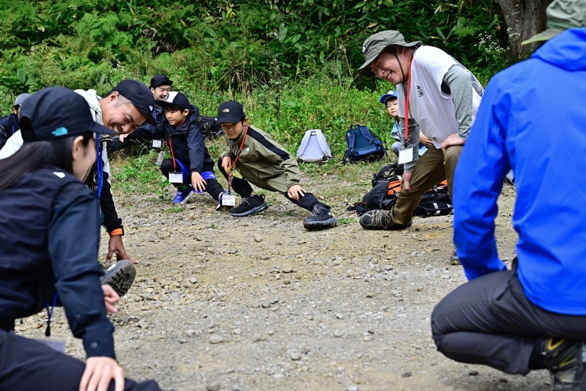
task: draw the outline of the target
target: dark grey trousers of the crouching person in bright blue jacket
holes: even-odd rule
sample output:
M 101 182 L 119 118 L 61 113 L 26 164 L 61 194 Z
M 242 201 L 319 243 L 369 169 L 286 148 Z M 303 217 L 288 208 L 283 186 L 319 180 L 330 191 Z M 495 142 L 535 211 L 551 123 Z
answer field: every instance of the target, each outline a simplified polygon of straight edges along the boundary
M 516 271 L 506 270 L 473 279 L 444 297 L 431 315 L 431 331 L 448 358 L 525 375 L 539 369 L 530 368 L 529 359 L 547 338 L 586 339 L 586 316 L 536 306 Z

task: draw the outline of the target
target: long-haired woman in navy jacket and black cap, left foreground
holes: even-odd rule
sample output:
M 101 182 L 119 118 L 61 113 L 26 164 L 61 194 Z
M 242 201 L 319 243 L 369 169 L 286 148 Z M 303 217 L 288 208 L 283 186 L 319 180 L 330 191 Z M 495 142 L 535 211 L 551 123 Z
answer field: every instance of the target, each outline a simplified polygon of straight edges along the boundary
M 100 208 L 81 182 L 96 161 L 96 134 L 115 132 L 63 87 L 31 95 L 20 119 L 22 148 L 0 160 L 0 389 L 159 390 L 125 380 L 115 359 L 106 311 L 116 312 L 120 297 L 101 285 Z M 56 305 L 83 339 L 86 363 L 14 333 L 16 319 L 47 308 L 49 336 Z

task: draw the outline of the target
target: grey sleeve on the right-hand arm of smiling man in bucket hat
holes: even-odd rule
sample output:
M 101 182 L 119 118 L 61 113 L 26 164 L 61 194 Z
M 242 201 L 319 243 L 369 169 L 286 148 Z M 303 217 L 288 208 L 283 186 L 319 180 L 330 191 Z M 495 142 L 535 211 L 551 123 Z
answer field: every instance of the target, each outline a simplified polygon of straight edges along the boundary
M 472 79 L 466 68 L 453 65 L 444 75 L 448 85 L 458 122 L 458 138 L 466 140 L 472 126 Z

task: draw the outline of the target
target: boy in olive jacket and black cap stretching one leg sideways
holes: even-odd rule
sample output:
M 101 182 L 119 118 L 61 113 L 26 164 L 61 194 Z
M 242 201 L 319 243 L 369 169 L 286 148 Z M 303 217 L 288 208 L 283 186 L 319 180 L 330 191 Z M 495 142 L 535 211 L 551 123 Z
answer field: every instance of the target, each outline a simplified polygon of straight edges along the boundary
M 220 172 L 228 180 L 242 201 L 230 210 L 234 217 L 244 217 L 261 212 L 267 208 L 264 195 L 257 195 L 248 183 L 270 191 L 277 191 L 289 201 L 308 211 L 311 215 L 305 219 L 306 229 L 334 227 L 336 218 L 330 207 L 320 203 L 313 194 L 301 187 L 301 173 L 294 155 L 279 145 L 267 133 L 248 124 L 244 107 L 237 101 L 227 101 L 218 108 L 217 122 L 229 146 L 228 152 L 218 160 Z M 241 178 L 237 177 L 236 170 Z M 227 205 L 224 194 L 223 204 Z M 231 202 L 230 202 L 231 203 Z

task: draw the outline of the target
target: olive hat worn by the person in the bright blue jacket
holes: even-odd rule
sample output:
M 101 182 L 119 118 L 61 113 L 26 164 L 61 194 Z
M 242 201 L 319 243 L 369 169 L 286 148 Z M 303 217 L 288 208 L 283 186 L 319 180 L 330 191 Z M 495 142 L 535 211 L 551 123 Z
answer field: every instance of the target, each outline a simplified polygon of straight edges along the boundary
M 564 30 L 586 27 L 586 0 L 554 0 L 546 9 L 547 29 L 521 44 L 547 41 Z

